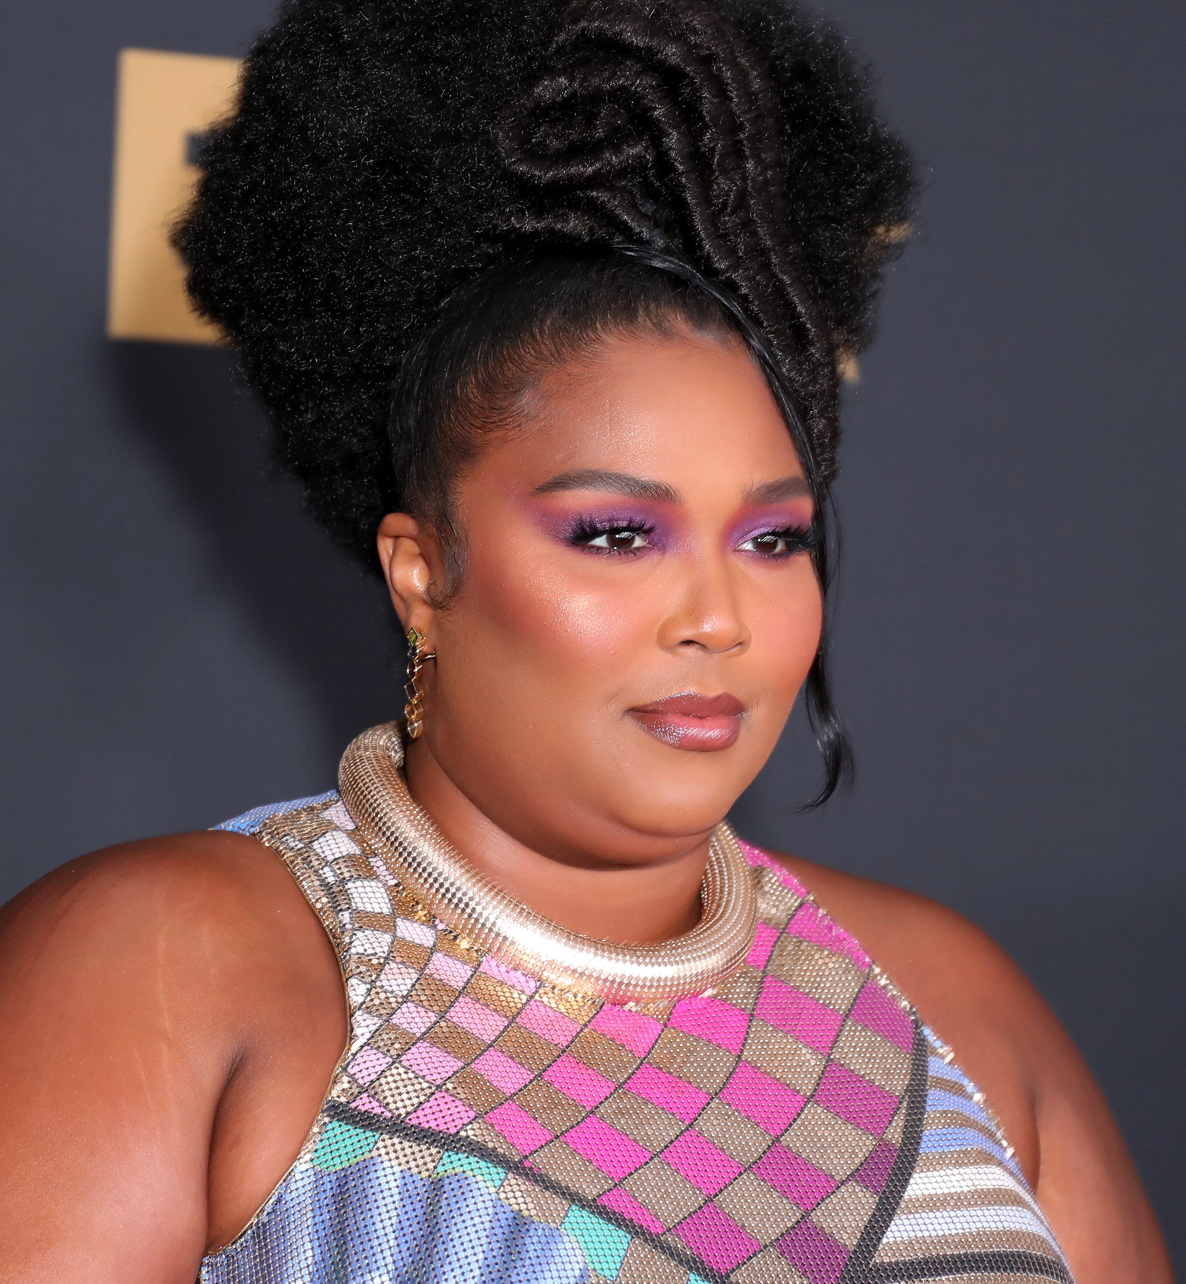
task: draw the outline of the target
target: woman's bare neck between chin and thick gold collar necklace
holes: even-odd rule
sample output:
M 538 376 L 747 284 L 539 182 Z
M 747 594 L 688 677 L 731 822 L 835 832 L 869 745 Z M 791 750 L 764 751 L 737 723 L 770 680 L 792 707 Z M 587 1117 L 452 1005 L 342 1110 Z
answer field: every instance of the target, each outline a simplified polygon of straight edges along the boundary
M 413 741 L 408 790 L 449 842 L 507 895 L 569 931 L 620 945 L 649 945 L 691 931 L 710 835 L 674 844 L 639 864 L 567 862 L 512 837 L 462 792 L 429 746 Z

